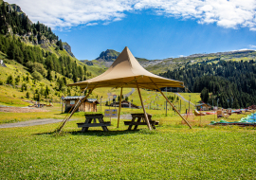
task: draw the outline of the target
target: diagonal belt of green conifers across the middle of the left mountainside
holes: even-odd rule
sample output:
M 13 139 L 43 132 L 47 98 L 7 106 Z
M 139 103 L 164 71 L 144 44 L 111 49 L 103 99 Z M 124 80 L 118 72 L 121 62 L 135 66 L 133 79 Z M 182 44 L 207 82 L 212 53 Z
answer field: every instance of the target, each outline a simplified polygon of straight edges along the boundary
M 57 57 L 38 46 L 24 44 L 15 36 L 0 35 L 0 51 L 8 55 L 10 60 L 21 63 L 28 68 L 30 73 L 39 72 L 44 78 L 50 80 L 49 72 L 55 71 L 64 77 L 78 81 L 86 80 L 86 66 L 78 65 L 70 56 Z M 46 71 L 48 71 L 46 73 Z

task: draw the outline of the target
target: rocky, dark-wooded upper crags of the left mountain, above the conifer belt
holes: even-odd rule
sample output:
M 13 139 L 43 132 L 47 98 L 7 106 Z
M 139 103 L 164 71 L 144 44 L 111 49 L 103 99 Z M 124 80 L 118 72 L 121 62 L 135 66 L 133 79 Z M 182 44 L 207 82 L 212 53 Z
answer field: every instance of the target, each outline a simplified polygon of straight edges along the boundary
M 42 48 L 53 52 L 54 49 L 66 50 L 66 52 L 75 57 L 71 52 L 71 47 L 67 43 L 59 40 L 59 37 L 52 32 L 50 27 L 37 22 L 33 24 L 22 9 L 15 5 L 0 1 L 0 33 L 3 35 L 15 35 L 30 45 L 40 45 Z

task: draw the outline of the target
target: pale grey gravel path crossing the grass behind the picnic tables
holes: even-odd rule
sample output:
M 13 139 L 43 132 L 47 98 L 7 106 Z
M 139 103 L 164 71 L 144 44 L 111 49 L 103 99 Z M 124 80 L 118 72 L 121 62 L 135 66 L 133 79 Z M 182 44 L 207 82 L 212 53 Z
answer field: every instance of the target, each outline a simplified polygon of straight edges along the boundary
M 113 117 L 113 118 L 117 118 L 117 117 Z M 120 119 L 132 119 L 132 116 L 131 115 L 121 115 Z M 51 123 L 59 123 L 59 122 L 62 122 L 63 120 L 64 119 L 56 119 L 56 118 L 27 120 L 27 121 L 22 121 L 22 122 L 0 124 L 0 128 L 19 128 L 19 127 L 26 127 L 26 126 L 44 125 L 44 124 L 51 124 Z M 78 120 L 78 118 L 69 119 L 69 121 L 70 120 Z

